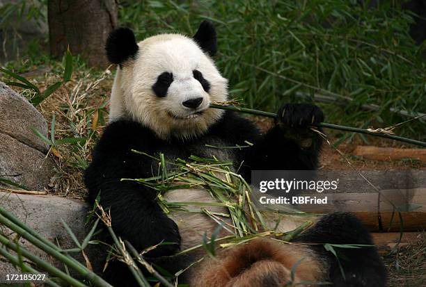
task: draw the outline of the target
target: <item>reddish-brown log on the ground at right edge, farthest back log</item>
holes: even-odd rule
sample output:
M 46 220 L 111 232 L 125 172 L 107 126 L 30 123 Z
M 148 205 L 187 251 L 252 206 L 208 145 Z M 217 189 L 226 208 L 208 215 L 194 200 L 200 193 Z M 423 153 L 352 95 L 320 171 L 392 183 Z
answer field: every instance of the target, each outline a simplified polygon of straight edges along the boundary
M 397 149 L 395 147 L 372 147 L 358 145 L 352 152 L 354 156 L 363 156 L 374 161 L 395 161 L 413 158 L 426 162 L 426 149 Z

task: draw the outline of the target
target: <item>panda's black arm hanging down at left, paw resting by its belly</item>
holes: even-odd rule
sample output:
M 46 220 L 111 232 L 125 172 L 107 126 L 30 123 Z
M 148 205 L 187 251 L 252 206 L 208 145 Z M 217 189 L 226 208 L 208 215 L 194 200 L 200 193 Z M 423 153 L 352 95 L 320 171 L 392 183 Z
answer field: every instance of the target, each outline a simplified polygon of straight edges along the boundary
M 100 205 L 111 212 L 113 230 L 138 250 L 164 242 L 150 256 L 173 254 L 179 249 L 178 227 L 155 202 L 156 192 L 134 181 L 152 177 L 151 161 L 131 149 L 150 153 L 155 137 L 134 122 L 114 122 L 97 143 L 93 161 L 85 172 L 89 202 L 100 195 Z

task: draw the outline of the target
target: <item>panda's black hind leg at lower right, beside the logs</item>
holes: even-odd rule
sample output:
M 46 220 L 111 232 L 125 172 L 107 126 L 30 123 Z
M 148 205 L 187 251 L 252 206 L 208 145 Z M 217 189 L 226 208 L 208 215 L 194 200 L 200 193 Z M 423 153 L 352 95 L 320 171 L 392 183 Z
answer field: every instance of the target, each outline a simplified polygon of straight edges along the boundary
M 384 287 L 386 286 L 386 268 L 376 248 L 339 248 L 333 247 L 339 262 L 324 243 L 374 245 L 370 233 L 351 213 L 332 213 L 322 217 L 313 227 L 301 233 L 294 240 L 302 243 L 320 243 L 312 248 L 326 258 L 330 264 L 329 279 L 333 287 Z

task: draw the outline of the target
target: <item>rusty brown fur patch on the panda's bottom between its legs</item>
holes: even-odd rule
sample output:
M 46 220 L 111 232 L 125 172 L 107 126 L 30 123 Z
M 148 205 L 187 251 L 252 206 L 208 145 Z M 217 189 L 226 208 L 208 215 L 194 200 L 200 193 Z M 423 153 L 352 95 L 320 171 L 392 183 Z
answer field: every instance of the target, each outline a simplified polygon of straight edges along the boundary
M 297 265 L 294 281 L 292 267 Z M 215 259 L 205 259 L 191 286 L 284 286 L 292 281 L 324 281 L 327 266 L 305 245 L 288 245 L 262 238 L 224 249 Z M 314 285 L 312 285 L 314 286 Z

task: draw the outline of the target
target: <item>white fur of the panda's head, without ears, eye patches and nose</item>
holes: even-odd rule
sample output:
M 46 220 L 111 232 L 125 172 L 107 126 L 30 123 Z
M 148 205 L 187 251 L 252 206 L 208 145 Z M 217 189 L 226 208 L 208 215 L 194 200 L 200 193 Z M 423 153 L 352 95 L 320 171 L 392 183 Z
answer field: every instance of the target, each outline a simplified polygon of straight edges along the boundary
M 162 34 L 138 45 L 136 58 L 117 70 L 111 92 L 110 122 L 129 118 L 150 127 L 159 138 L 167 139 L 172 135 L 191 138 L 203 134 L 219 120 L 223 110 L 209 105 L 211 101 L 226 101 L 228 81 L 194 40 L 180 34 Z M 194 69 L 210 82 L 208 93 L 194 79 Z M 173 73 L 173 83 L 166 97 L 160 98 L 152 85 L 163 72 Z M 183 101 L 196 97 L 203 97 L 195 110 L 203 111 L 201 115 L 193 115 L 194 110 L 182 105 Z

